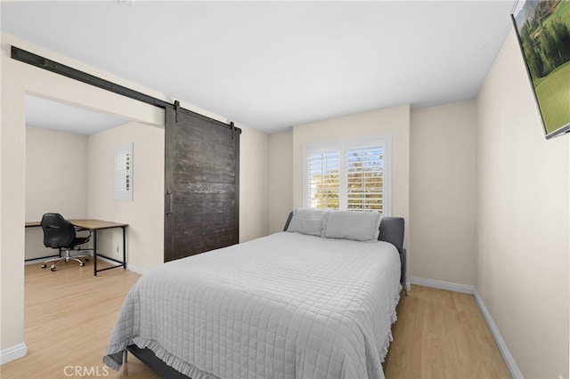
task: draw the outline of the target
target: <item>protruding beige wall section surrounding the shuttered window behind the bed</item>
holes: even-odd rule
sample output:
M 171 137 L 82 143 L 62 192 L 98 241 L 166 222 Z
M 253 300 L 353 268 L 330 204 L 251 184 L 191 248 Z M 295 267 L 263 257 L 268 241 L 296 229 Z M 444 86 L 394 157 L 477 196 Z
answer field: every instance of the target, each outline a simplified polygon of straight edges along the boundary
M 293 204 L 303 206 L 303 145 L 392 134 L 392 214 L 410 221 L 410 106 L 379 109 L 293 126 Z M 408 223 L 409 225 L 409 223 Z M 404 245 L 409 247 L 410 228 Z

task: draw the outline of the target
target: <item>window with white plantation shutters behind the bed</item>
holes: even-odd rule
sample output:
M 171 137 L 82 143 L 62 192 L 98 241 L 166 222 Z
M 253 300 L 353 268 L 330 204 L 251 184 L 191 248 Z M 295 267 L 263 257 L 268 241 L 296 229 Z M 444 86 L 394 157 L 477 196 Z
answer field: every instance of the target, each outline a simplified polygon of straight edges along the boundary
M 390 214 L 391 136 L 307 144 L 304 206 Z

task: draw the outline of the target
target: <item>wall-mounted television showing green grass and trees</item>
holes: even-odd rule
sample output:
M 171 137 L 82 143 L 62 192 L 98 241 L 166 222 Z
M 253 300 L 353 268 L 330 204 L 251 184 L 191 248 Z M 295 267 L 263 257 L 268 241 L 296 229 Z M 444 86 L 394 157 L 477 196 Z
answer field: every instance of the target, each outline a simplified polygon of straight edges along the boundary
M 570 132 L 570 0 L 519 0 L 511 18 L 546 138 Z

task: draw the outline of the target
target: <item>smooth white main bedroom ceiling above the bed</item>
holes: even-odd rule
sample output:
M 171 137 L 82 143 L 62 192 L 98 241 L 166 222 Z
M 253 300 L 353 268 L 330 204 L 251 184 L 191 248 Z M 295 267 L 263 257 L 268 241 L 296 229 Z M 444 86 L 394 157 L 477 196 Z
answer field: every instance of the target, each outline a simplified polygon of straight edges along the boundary
M 514 1 L 18 1 L 2 31 L 237 123 L 473 99 Z M 46 116 L 45 116 L 46 117 Z

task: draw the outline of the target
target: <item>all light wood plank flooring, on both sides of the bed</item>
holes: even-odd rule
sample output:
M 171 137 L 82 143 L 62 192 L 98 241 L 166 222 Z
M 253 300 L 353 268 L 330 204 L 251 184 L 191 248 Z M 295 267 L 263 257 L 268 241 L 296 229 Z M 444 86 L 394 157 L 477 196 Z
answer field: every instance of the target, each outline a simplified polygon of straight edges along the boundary
M 102 266 L 105 262 L 100 262 Z M 25 271 L 28 356 L 0 367 L 3 379 L 158 378 L 129 354 L 120 372 L 102 364 L 111 328 L 139 275 L 123 269 L 93 276 L 69 262 L 56 272 Z M 398 305 L 384 371 L 390 378 L 509 378 L 473 296 L 413 286 Z

